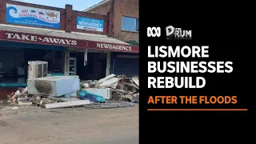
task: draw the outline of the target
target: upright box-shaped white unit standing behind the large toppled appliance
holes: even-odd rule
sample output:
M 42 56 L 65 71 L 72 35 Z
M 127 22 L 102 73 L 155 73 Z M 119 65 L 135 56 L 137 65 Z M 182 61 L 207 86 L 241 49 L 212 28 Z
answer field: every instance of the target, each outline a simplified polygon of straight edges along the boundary
M 28 62 L 28 70 L 27 70 L 28 79 L 47 77 L 47 74 L 48 74 L 48 62 L 43 62 L 43 61 Z

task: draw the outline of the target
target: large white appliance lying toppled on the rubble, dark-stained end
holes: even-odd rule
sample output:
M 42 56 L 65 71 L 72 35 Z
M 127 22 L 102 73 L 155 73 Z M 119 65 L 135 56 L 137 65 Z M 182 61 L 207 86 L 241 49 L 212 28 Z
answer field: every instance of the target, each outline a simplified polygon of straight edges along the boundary
M 46 94 L 53 97 L 70 95 L 80 90 L 78 76 L 51 76 L 27 80 L 29 94 Z

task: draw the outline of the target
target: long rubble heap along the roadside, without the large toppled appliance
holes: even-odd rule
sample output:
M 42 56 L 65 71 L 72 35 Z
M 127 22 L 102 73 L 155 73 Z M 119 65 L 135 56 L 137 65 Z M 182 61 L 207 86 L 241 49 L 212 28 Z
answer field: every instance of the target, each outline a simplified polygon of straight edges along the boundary
M 50 96 L 47 94 L 29 94 L 28 89 L 18 88 L 7 96 L 8 102 L 14 105 L 34 105 L 46 109 L 85 106 L 88 108 L 114 108 L 134 106 L 139 101 L 138 76 L 127 78 L 126 75 L 110 74 L 98 81 L 80 81 L 81 90 L 75 95 Z M 89 88 L 101 92 L 110 90 L 111 97 L 104 94 L 90 92 Z M 31 87 L 30 87 L 31 89 Z M 96 92 L 95 91 L 95 92 Z M 118 102 L 109 102 L 114 100 Z

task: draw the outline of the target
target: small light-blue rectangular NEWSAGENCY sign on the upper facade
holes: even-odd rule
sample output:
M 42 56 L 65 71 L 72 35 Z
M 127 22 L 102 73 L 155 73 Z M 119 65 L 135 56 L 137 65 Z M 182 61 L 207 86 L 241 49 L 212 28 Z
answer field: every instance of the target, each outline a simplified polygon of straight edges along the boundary
M 78 17 L 77 29 L 102 32 L 104 29 L 104 21 L 100 19 Z

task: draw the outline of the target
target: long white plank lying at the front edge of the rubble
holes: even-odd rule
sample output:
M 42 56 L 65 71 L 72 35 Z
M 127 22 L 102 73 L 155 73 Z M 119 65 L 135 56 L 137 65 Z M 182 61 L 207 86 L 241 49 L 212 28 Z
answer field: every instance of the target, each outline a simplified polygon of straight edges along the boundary
M 84 106 L 90 103 L 91 102 L 89 100 L 81 100 L 81 101 L 74 101 L 74 102 L 48 103 L 45 106 L 46 106 L 46 109 L 56 109 L 56 108 L 65 108 L 65 107 L 72 107 L 72 106 Z

